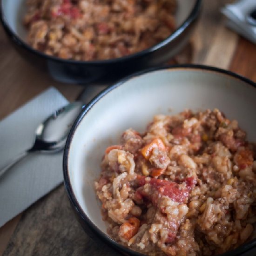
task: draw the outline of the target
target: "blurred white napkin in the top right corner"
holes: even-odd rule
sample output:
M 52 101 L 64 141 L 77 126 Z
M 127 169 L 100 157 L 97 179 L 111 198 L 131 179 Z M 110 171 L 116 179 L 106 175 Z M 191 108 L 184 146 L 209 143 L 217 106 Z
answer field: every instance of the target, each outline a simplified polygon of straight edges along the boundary
M 256 27 L 246 22 L 246 16 L 254 9 L 256 9 L 256 0 L 239 0 L 234 4 L 226 5 L 221 12 L 228 17 L 227 26 L 230 29 L 256 43 Z

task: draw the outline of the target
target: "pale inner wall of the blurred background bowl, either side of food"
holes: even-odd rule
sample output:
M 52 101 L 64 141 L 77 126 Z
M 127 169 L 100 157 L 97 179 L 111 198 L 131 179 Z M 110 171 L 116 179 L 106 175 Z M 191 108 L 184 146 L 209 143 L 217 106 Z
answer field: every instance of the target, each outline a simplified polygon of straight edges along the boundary
M 1 2 L 6 23 L 14 34 L 26 41 L 27 31 L 22 22 L 26 13 L 26 0 L 2 0 Z M 196 0 L 177 0 L 177 2 L 176 22 L 177 27 L 179 27 L 188 18 L 195 6 Z

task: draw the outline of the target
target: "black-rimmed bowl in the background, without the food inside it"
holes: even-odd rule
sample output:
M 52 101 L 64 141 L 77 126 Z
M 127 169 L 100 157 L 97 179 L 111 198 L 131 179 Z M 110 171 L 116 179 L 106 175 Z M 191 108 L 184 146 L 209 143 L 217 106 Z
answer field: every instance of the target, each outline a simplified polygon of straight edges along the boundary
M 33 65 L 47 70 L 55 80 L 80 84 L 87 84 L 104 77 L 108 77 L 108 80 L 116 80 L 122 75 L 168 61 L 188 42 L 202 5 L 202 0 L 177 0 L 177 29 L 154 47 L 118 59 L 73 61 L 43 54 L 26 43 L 27 32 L 22 25 L 22 17 L 26 13 L 25 1 L 1 0 L 0 3 L 0 20 L 15 48 Z

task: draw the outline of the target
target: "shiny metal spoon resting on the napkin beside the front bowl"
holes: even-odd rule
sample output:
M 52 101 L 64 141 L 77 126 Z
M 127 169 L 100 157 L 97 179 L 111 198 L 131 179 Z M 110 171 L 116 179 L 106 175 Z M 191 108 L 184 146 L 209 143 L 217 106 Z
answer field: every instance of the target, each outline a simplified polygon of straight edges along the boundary
M 64 148 L 68 132 L 81 112 L 83 105 L 79 101 L 70 103 L 40 123 L 35 131 L 35 141 L 32 148 L 16 155 L 10 162 L 3 165 L 0 168 L 0 176 L 31 152 L 57 152 Z

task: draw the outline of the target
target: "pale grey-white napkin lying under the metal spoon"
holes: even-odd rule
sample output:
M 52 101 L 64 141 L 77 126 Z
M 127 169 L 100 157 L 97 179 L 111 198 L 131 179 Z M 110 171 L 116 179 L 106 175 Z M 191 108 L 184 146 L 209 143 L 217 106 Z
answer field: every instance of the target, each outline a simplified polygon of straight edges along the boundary
M 41 121 L 68 103 L 49 88 L 0 121 L 0 163 L 30 148 Z M 0 177 L 0 227 L 63 181 L 62 154 L 31 153 Z

